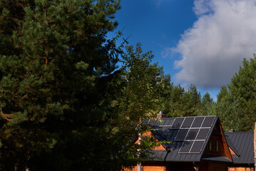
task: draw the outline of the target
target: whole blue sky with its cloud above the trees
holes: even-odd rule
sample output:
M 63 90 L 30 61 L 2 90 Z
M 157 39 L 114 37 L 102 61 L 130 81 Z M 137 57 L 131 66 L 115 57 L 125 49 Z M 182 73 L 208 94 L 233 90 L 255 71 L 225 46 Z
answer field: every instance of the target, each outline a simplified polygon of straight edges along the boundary
M 115 20 L 110 36 L 123 29 L 175 85 L 193 84 L 214 100 L 256 51 L 256 0 L 121 0 Z

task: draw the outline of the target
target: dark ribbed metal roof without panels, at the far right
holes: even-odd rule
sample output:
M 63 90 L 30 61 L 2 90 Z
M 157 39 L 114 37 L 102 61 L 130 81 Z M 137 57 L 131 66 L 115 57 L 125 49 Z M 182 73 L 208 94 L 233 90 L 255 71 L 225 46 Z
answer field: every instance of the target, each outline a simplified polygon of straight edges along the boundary
M 225 133 L 227 144 L 237 154 L 232 155 L 234 164 L 254 164 L 253 133 Z

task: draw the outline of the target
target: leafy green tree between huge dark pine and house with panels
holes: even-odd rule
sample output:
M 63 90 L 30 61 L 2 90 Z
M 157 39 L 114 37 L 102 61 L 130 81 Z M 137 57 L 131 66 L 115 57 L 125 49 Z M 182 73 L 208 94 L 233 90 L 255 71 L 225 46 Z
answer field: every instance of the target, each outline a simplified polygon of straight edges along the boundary
M 120 83 L 123 85 L 121 94 L 115 101 L 118 119 L 113 120 L 116 125 L 113 140 L 116 144 L 130 141 L 129 145 L 120 144 L 113 147 L 123 156 L 123 167 L 136 165 L 148 158 L 148 150 L 157 145 L 151 137 L 143 138 L 141 144 L 134 144 L 139 133 L 149 131 L 146 125 L 142 125 L 143 118 L 152 118 L 156 115 L 160 104 L 159 90 L 161 88 L 159 80 L 163 76 L 163 68 L 157 63 L 151 64 L 153 55 L 151 52 L 143 53 L 141 44 L 126 46 L 126 51 L 122 54 Z M 122 135 L 122 136 L 120 136 Z M 138 158 L 138 149 L 140 157 Z M 113 161 L 116 162 L 116 161 Z M 120 163 L 119 163 L 120 165 Z

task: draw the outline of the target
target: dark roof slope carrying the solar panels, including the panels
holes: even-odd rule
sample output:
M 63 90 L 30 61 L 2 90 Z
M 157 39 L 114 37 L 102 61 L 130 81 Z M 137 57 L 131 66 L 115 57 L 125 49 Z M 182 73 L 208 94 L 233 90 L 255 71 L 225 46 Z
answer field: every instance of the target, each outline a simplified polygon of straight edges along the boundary
M 155 156 L 172 162 L 199 162 L 217 123 L 217 116 L 148 119 L 155 137 L 163 141 L 166 151 Z M 165 142 L 166 141 L 166 142 Z

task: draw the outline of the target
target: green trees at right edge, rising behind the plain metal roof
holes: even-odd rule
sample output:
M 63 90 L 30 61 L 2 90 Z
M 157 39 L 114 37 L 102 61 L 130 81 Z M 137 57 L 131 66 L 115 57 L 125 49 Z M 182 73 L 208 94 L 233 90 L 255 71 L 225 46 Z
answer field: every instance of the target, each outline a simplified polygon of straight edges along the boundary
M 228 89 L 222 86 L 217 96 L 215 114 L 227 131 L 252 131 L 255 121 L 256 58 L 244 59 Z

